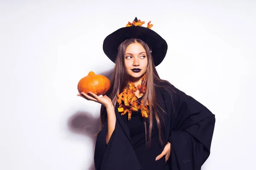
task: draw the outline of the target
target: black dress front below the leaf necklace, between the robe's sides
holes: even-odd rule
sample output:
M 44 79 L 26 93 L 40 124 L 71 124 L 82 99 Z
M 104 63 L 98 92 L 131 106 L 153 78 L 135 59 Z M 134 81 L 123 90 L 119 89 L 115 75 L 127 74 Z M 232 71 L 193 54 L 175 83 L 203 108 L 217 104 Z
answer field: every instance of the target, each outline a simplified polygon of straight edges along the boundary
M 141 101 L 142 97 L 138 100 Z M 118 103 L 116 105 L 118 107 Z M 140 162 L 142 170 L 165 170 L 166 162 L 165 157 L 161 158 L 158 161 L 155 161 L 156 157 L 162 153 L 165 145 L 160 145 L 158 140 L 158 127 L 157 122 L 153 120 L 153 129 L 151 137 L 151 147 L 146 148 L 145 141 L 145 126 L 143 117 L 139 111 L 133 111 L 131 114 L 131 119 L 128 120 L 128 113 L 122 115 L 122 119 L 125 124 L 128 126 L 131 142 L 136 153 L 136 156 Z M 146 127 L 149 129 L 149 122 L 146 119 Z M 164 128 L 161 129 L 162 134 L 164 134 Z M 164 135 L 162 136 L 162 139 Z M 163 139 L 164 141 L 165 139 Z

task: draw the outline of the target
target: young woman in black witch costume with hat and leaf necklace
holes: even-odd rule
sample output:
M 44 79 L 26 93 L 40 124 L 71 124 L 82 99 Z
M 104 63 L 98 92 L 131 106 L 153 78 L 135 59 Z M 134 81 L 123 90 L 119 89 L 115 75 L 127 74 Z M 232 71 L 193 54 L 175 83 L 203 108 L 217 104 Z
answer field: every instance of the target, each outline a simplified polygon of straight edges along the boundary
M 135 18 L 105 38 L 103 50 L 116 64 L 108 93 L 78 94 L 102 104 L 95 168 L 200 170 L 209 157 L 215 115 L 160 79 L 155 67 L 167 43 L 143 23 Z

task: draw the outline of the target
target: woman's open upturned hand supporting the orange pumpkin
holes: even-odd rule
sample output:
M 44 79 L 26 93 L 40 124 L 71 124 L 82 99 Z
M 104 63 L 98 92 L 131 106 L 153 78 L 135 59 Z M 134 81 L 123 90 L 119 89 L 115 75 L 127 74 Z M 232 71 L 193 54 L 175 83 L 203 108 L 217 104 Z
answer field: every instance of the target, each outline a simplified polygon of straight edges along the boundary
M 102 97 L 97 96 L 96 94 L 92 92 L 88 92 L 88 94 L 85 94 L 84 92 L 81 92 L 81 94 L 77 94 L 77 96 L 83 97 L 87 100 L 92 100 L 94 102 L 100 103 L 104 105 L 106 108 L 113 106 L 111 99 L 107 95 L 103 95 Z

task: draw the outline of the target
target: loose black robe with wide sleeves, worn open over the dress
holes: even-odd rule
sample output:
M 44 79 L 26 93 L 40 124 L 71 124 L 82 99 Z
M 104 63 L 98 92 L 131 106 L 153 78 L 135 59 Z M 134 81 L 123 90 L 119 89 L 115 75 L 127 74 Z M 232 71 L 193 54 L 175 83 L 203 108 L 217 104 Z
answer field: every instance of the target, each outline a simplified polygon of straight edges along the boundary
M 173 85 L 172 89 L 176 93 L 169 95 L 164 88 L 155 88 L 157 102 L 167 112 L 162 115 L 165 123 L 164 143 L 171 143 L 168 170 L 201 170 L 210 154 L 215 115 Z M 107 122 L 98 133 L 94 153 L 95 169 L 140 170 L 140 162 L 134 152 L 129 129 L 117 108 L 115 113 L 115 130 L 108 145 Z

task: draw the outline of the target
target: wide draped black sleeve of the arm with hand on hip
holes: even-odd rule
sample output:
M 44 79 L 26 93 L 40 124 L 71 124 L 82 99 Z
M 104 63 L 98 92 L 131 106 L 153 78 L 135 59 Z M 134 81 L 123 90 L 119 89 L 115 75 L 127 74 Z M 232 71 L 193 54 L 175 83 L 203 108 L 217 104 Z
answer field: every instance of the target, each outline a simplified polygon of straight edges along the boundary
M 210 154 L 215 115 L 204 105 L 175 88 L 172 95 L 164 90 L 169 115 L 171 170 L 201 170 Z

